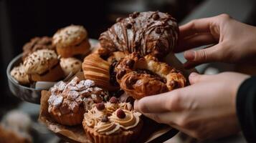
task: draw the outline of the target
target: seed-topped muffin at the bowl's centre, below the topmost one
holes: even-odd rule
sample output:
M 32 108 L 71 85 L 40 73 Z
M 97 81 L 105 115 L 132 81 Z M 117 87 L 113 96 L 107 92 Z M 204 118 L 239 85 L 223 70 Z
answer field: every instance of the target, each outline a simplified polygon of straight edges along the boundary
M 24 70 L 34 82 L 55 82 L 64 77 L 57 54 L 49 49 L 40 49 L 29 54 L 24 60 Z

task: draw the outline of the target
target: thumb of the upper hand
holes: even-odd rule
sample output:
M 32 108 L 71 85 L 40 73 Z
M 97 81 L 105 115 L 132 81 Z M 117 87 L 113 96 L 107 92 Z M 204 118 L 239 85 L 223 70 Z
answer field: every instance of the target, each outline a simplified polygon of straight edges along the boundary
M 199 49 L 198 51 L 185 51 L 184 57 L 187 60 L 184 66 L 191 68 L 199 64 L 207 63 L 210 61 L 218 61 L 219 54 L 217 52 L 219 44 L 211 46 L 206 49 Z

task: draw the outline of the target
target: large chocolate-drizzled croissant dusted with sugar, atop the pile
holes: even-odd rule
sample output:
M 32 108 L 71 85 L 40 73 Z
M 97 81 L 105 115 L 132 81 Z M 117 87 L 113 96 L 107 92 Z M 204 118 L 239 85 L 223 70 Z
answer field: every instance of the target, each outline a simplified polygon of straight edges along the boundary
M 100 45 L 109 51 L 136 52 L 161 57 L 174 49 L 179 28 L 169 14 L 158 11 L 135 12 L 100 35 Z

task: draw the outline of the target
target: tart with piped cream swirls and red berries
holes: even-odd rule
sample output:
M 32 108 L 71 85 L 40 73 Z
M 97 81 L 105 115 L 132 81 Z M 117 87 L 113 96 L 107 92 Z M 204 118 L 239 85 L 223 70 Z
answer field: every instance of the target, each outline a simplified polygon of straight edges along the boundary
M 141 114 L 129 103 L 94 104 L 85 113 L 82 125 L 87 137 L 95 143 L 125 143 L 138 137 L 143 125 Z

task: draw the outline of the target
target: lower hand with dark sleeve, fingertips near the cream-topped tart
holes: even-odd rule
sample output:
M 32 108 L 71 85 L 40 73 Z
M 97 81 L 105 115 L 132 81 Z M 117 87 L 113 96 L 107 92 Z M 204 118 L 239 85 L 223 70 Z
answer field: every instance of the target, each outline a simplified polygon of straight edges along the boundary
M 240 131 L 236 94 L 249 76 L 234 72 L 189 76 L 190 86 L 136 100 L 134 107 L 156 122 L 169 124 L 199 139 L 224 137 Z

